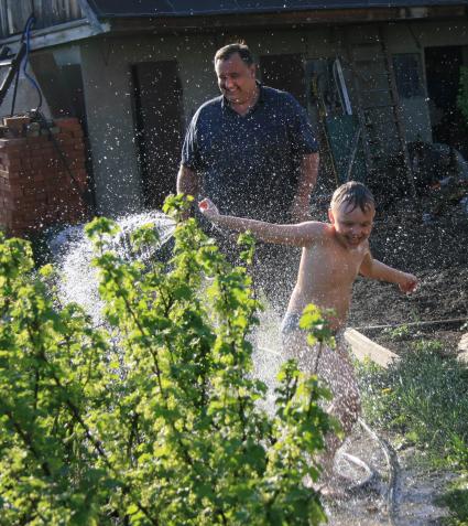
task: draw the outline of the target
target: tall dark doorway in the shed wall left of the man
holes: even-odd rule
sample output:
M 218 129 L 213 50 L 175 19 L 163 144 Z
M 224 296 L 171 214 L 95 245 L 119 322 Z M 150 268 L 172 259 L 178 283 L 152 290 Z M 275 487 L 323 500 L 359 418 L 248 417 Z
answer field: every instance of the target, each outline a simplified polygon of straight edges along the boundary
M 175 192 L 181 160 L 182 85 L 177 63 L 142 62 L 132 69 L 144 205 L 161 208 L 166 195 Z

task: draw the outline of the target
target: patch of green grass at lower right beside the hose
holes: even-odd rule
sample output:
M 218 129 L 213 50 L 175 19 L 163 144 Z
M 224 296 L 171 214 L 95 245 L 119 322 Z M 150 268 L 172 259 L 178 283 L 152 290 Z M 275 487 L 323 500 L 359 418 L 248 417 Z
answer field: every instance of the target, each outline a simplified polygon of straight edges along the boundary
M 421 341 L 388 369 L 357 365 L 366 418 L 405 434 L 436 462 L 468 470 L 468 371 Z

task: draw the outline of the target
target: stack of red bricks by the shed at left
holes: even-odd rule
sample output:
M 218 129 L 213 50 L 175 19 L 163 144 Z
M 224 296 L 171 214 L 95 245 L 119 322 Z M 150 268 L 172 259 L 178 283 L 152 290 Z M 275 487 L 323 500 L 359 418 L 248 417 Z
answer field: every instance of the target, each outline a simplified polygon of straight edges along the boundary
M 88 178 L 78 119 L 57 119 L 45 128 L 39 122 L 4 120 L 6 132 L 0 138 L 0 228 L 23 236 L 83 221 L 87 215 L 83 194 Z

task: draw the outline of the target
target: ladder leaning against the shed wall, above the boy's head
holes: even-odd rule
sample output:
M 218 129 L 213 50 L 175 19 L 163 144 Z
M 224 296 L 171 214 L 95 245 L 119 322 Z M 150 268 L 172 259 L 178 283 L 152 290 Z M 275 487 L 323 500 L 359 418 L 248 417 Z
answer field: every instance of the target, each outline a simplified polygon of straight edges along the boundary
M 414 179 L 401 115 L 393 63 L 382 28 L 368 40 L 352 42 L 346 31 L 345 44 L 352 73 L 356 114 L 358 116 L 362 150 L 368 176 L 387 164 L 389 150 L 396 154 L 400 169 L 415 195 Z M 393 142 L 390 143 L 389 141 Z M 393 144 L 393 148 L 389 148 Z

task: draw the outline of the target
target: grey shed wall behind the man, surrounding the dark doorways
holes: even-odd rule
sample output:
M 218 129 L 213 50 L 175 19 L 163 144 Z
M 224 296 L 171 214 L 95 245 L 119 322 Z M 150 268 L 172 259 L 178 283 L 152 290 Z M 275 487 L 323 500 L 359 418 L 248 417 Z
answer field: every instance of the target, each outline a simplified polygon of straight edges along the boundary
M 376 26 L 355 30 L 374 31 Z M 385 35 L 391 53 L 416 53 L 422 66 L 425 46 L 468 45 L 467 25 L 459 21 L 391 24 Z M 117 215 L 142 206 L 133 131 L 131 65 L 144 61 L 177 61 L 186 125 L 203 101 L 218 94 L 211 63 L 216 50 L 239 37 L 244 39 L 257 55 L 302 53 L 306 61 L 333 58 L 336 54 L 346 56 L 344 33 L 331 26 L 246 31 L 218 37 L 209 34 L 106 37 L 81 44 L 80 61 L 99 213 Z M 426 94 L 403 99 L 401 104 L 407 139 L 431 141 Z

